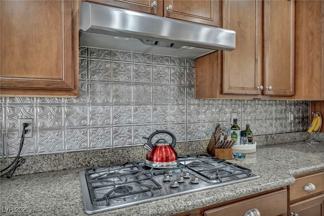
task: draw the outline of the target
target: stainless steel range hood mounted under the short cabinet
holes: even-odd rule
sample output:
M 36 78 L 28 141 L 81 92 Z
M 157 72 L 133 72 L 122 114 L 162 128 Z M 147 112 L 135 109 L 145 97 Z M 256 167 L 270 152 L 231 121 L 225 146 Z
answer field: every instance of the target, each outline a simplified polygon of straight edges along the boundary
M 83 2 L 79 44 L 183 58 L 235 49 L 235 31 Z

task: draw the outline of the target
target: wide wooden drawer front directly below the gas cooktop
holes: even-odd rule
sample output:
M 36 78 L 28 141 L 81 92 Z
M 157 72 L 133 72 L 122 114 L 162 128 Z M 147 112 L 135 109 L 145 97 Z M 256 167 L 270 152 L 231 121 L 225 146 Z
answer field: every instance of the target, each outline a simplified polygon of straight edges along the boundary
M 274 216 L 279 214 L 286 214 L 287 190 L 280 190 L 209 209 L 204 211 L 204 216 L 242 216 L 247 211 L 254 208 L 258 209 L 261 215 Z

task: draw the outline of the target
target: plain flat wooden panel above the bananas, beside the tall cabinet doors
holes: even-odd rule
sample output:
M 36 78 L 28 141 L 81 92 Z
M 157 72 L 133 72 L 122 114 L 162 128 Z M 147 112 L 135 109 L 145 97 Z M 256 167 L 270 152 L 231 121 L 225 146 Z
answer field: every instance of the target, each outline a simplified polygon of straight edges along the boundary
M 295 3 L 295 97 L 324 99 L 324 1 Z

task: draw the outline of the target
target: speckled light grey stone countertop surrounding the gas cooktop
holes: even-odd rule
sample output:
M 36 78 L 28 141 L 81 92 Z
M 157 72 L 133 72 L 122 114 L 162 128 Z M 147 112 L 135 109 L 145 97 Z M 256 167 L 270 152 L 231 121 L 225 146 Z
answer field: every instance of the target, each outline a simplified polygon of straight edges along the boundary
M 259 179 L 160 199 L 95 215 L 172 215 L 245 197 L 295 182 L 293 176 L 324 169 L 324 143 L 294 142 L 257 147 L 245 160 L 228 160 L 252 169 Z M 0 207 L 25 207 L 23 215 L 86 215 L 78 172 L 84 168 L 1 178 Z

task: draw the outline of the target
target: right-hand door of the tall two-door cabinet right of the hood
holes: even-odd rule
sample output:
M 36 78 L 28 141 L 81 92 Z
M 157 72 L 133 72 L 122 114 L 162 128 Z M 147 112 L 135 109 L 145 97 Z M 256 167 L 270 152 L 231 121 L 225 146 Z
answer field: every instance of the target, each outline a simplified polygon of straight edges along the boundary
M 294 95 L 294 0 L 264 2 L 264 95 Z

